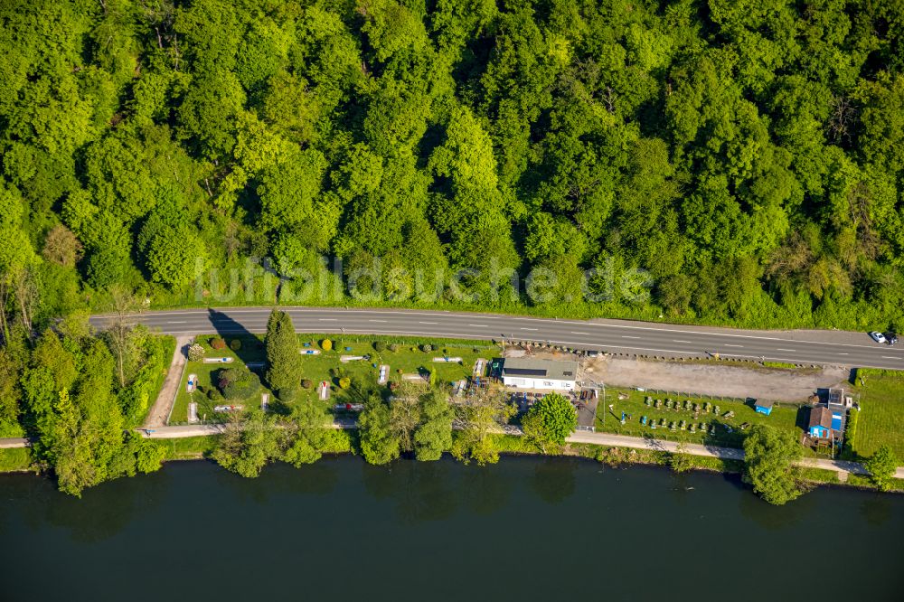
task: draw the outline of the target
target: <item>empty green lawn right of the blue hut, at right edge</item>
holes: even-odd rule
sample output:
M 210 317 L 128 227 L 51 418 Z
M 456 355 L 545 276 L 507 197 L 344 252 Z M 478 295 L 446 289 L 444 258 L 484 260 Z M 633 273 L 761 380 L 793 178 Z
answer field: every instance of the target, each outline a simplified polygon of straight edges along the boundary
M 887 443 L 904 464 L 904 373 L 859 370 L 852 391 L 860 393 L 861 406 L 851 441 L 854 454 L 868 457 Z

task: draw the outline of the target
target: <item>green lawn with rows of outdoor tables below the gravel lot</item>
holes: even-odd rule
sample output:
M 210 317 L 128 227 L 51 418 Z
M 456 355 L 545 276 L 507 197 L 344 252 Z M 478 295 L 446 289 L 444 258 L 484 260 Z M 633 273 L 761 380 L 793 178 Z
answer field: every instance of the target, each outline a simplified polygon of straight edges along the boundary
M 625 396 L 626 399 L 624 400 L 618 399 Z M 662 407 L 647 406 L 645 404 L 647 397 L 651 397 L 654 401 L 662 400 Z M 666 399 L 671 399 L 673 402 L 680 401 L 682 408 L 666 408 Z M 687 400 L 690 400 L 692 405 L 698 404 L 700 411 L 695 414 L 692 409 L 683 409 Z M 703 409 L 706 403 L 710 404 L 709 412 Z M 609 405 L 612 405 L 612 409 L 607 407 Z M 719 406 L 720 409 L 718 416 L 715 414 L 715 406 Z M 711 400 L 694 398 L 692 396 L 677 398 L 663 393 L 654 394 L 638 390 L 607 388 L 605 404 L 602 397 L 599 399 L 597 430 L 633 437 L 654 437 L 683 440 L 688 443 L 705 443 L 721 447 L 741 447 L 744 441 L 744 430 L 740 426 L 744 423 L 749 423 L 750 426 L 767 424 L 777 428 L 784 428 L 794 432 L 795 436 L 797 436 L 801 432 L 796 427 L 797 410 L 798 407 L 794 405 L 782 407 L 776 404 L 772 409 L 772 414 L 766 416 L 755 411 L 752 404 L 739 400 Z M 734 417 L 725 417 L 725 414 L 729 411 L 735 413 Z M 626 418 L 624 425 L 620 423 L 622 412 L 632 415 L 632 418 Z M 646 426 L 640 423 L 643 416 L 647 417 Z M 650 425 L 654 420 L 656 428 L 651 428 Z M 664 426 L 662 425 L 663 420 L 665 421 Z M 680 427 L 682 420 L 686 422 L 684 429 Z M 674 429 L 669 428 L 672 423 L 674 423 Z M 714 432 L 703 434 L 701 423 L 705 424 L 708 430 L 711 427 L 715 427 Z M 690 430 L 692 424 L 695 426 L 695 432 Z

